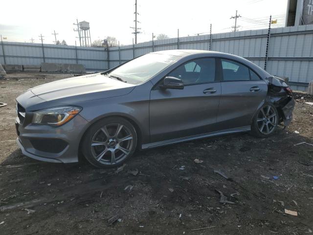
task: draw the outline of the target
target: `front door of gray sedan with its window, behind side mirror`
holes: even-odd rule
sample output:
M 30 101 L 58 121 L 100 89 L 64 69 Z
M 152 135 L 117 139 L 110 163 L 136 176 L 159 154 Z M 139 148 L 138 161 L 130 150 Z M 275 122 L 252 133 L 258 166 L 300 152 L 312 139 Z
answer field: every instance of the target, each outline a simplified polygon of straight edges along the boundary
M 221 83 L 215 79 L 215 66 L 215 58 L 189 61 L 167 75 L 182 79 L 183 90 L 156 87 L 151 91 L 151 142 L 215 130 L 221 95 Z

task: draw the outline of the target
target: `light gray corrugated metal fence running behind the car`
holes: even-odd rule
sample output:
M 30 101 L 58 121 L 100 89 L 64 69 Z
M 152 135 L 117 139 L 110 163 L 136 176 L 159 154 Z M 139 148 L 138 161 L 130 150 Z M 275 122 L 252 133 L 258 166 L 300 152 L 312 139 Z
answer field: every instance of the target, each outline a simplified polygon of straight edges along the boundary
M 211 49 L 245 57 L 264 68 L 267 36 L 268 29 L 212 34 Z M 179 38 L 179 49 L 208 50 L 209 45 L 210 35 Z M 293 88 L 305 90 L 306 84 L 313 80 L 312 45 L 313 25 L 271 29 L 267 71 L 273 75 L 289 77 L 291 84 L 297 84 Z M 43 62 L 41 44 L 4 42 L 3 47 L 6 64 L 40 65 Z M 177 38 L 154 40 L 154 51 L 177 48 Z M 74 46 L 44 44 L 44 52 L 48 63 L 76 63 Z M 111 47 L 110 68 L 150 52 L 152 41 L 138 43 L 134 48 L 133 45 L 121 46 L 120 51 L 119 47 Z M 77 57 L 78 63 L 83 64 L 87 70 L 108 69 L 108 52 L 103 47 L 77 47 Z M 0 63 L 4 64 L 1 47 Z

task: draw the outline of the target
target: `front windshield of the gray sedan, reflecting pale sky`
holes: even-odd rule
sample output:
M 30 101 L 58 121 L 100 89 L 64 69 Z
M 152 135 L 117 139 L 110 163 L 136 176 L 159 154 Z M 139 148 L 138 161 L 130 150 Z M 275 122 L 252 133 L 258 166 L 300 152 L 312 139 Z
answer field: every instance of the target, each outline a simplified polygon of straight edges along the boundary
M 139 84 L 149 80 L 178 59 L 179 57 L 175 55 L 146 54 L 125 63 L 106 75 L 127 83 Z

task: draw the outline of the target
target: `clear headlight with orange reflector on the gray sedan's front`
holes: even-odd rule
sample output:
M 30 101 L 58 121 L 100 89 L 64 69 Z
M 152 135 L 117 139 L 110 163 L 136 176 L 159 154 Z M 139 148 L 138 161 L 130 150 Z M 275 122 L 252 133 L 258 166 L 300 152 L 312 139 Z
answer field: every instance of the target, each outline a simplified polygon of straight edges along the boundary
M 36 111 L 32 123 L 61 126 L 74 118 L 81 110 L 81 107 L 65 106 Z

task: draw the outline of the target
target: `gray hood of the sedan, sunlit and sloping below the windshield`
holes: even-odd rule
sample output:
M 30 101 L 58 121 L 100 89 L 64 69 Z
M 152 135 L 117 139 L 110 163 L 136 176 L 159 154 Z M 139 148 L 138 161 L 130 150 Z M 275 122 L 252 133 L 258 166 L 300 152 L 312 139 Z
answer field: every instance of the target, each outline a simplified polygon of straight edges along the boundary
M 31 92 L 45 101 L 68 97 L 82 97 L 92 100 L 120 96 L 130 93 L 134 85 L 109 78 L 100 73 L 62 79 L 31 89 Z M 80 101 L 78 98 L 77 101 Z

